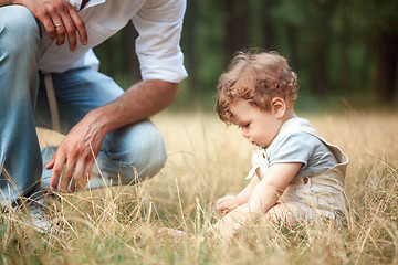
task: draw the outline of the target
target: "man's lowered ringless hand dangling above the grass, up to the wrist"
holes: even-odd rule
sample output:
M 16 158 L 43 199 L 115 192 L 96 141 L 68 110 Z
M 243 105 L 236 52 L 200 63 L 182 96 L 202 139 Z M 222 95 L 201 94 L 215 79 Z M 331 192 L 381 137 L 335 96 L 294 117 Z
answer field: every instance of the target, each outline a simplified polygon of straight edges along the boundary
M 82 190 L 87 184 L 106 135 L 93 116 L 88 113 L 71 129 L 45 166 L 45 169 L 53 169 L 50 182 L 52 190 L 59 188 L 61 193 L 65 192 L 72 176 L 70 191 Z

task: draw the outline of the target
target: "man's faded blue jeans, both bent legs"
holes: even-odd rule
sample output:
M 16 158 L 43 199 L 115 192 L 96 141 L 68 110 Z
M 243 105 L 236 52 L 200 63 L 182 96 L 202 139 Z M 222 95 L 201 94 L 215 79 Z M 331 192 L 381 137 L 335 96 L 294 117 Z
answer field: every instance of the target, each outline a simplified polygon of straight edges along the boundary
M 51 128 L 50 107 L 43 76 L 38 70 L 40 29 L 33 14 L 22 6 L 0 8 L 0 184 L 1 204 L 17 197 L 30 197 L 48 187 L 51 171 L 43 170 L 53 147 L 42 150 L 35 127 Z M 56 59 L 55 59 L 56 60 Z M 52 80 L 61 119 L 67 131 L 90 110 L 123 94 L 115 82 L 91 68 L 53 73 Z M 134 182 L 153 177 L 166 161 L 164 139 L 149 120 L 109 132 L 94 166 L 90 186 Z M 100 171 L 100 172 L 98 172 Z

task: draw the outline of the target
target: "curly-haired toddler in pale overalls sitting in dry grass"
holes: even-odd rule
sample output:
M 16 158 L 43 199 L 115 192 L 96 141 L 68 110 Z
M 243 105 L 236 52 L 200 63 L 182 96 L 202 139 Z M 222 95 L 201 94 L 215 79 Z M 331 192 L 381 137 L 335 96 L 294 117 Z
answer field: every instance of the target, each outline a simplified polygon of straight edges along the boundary
M 348 158 L 294 113 L 297 77 L 277 53 L 239 53 L 218 85 L 216 109 L 258 148 L 250 183 L 217 201 L 223 218 L 214 225 L 235 233 L 247 219 L 289 225 L 302 221 L 344 221 L 344 179 Z

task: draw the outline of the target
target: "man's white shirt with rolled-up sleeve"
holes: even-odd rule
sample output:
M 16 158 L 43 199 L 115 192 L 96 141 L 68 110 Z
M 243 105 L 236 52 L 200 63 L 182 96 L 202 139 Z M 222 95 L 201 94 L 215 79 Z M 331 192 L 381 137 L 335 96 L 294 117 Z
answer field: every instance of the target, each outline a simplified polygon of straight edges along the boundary
M 186 0 L 90 0 L 80 10 L 82 0 L 70 0 L 85 23 L 88 44 L 77 38 L 75 52 L 67 40 L 56 45 L 43 25 L 39 68 L 62 73 L 71 68 L 98 68 L 98 59 L 92 47 L 115 34 L 130 20 L 138 31 L 136 53 L 143 80 L 163 80 L 179 83 L 187 77 L 179 42 Z

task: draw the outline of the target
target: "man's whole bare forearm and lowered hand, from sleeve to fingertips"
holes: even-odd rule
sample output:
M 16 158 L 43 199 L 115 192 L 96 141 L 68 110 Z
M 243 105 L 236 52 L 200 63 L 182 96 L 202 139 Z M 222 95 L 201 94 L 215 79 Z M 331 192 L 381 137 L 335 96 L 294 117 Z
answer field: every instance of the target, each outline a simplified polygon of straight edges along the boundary
M 53 169 L 50 188 L 65 192 L 74 171 L 70 191 L 84 189 L 106 134 L 166 108 L 176 98 L 177 91 L 177 83 L 143 81 L 115 102 L 90 112 L 71 129 L 45 166 Z

